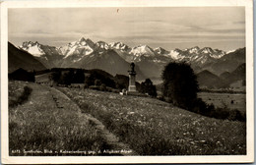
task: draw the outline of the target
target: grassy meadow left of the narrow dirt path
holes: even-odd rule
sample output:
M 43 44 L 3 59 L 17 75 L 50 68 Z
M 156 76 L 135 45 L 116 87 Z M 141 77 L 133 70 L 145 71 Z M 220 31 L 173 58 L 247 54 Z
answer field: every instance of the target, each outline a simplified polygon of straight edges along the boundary
M 9 108 L 10 155 L 91 155 L 111 148 L 95 124 L 56 89 L 9 82 L 9 100 L 17 100 L 24 86 L 32 88 L 29 99 Z

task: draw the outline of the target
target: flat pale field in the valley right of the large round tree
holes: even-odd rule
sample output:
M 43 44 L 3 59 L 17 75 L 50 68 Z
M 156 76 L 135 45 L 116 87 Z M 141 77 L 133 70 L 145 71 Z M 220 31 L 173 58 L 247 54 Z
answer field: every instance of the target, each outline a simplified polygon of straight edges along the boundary
M 237 109 L 242 113 L 246 112 L 245 94 L 199 92 L 198 97 L 202 98 L 208 104 L 214 104 L 218 108 L 226 106 L 230 109 Z

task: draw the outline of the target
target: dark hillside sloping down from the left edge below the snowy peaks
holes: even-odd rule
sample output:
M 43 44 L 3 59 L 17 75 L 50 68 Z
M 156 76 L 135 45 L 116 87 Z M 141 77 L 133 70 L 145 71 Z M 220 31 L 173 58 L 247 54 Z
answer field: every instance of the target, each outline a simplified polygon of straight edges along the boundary
M 40 71 L 46 68 L 37 61 L 30 53 L 20 50 L 12 43 L 8 42 L 8 73 L 12 73 L 19 68 L 28 71 Z

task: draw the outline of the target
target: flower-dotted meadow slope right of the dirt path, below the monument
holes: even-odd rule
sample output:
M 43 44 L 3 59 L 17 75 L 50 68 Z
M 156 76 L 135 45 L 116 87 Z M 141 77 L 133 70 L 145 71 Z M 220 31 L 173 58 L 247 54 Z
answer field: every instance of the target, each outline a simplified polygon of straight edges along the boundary
M 246 154 L 246 123 L 204 117 L 149 97 L 61 88 L 140 155 Z

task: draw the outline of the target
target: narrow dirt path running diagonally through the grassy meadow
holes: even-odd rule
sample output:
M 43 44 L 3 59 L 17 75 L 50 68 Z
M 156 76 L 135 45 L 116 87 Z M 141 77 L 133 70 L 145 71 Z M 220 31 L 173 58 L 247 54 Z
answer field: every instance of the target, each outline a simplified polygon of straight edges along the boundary
M 96 125 L 96 129 L 99 130 L 102 133 L 102 137 L 106 140 L 106 142 L 111 146 L 112 149 L 105 150 L 105 153 L 107 154 L 120 154 L 120 155 L 136 155 L 136 152 L 132 149 L 130 149 L 128 144 L 125 144 L 119 140 L 115 135 L 110 133 L 105 126 L 98 121 L 96 118 L 94 118 L 90 114 L 82 113 L 80 107 L 73 102 L 66 94 L 59 91 L 58 89 L 54 87 L 48 87 L 49 91 L 52 94 L 53 100 L 56 102 L 56 106 L 58 108 L 65 108 L 65 106 L 68 105 L 68 107 L 73 107 L 75 109 L 79 109 L 79 116 L 82 118 L 85 118 L 89 121 L 92 121 Z

